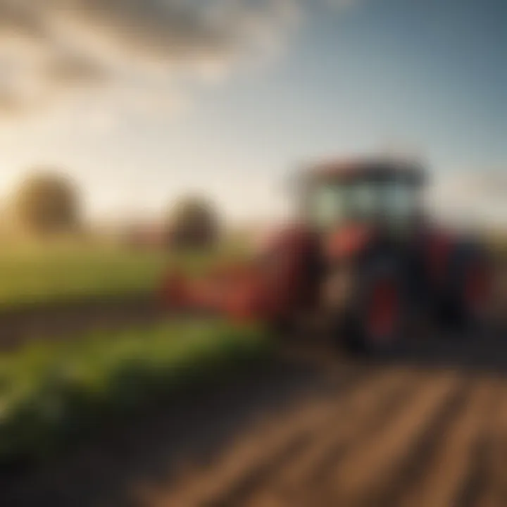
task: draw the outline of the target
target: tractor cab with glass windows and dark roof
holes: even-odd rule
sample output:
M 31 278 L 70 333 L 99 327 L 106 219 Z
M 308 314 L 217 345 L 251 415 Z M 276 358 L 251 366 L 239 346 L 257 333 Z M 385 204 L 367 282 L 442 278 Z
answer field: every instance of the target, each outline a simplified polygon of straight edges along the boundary
M 346 223 L 410 230 L 421 215 L 425 173 L 414 163 L 326 163 L 303 175 L 303 220 L 327 231 Z

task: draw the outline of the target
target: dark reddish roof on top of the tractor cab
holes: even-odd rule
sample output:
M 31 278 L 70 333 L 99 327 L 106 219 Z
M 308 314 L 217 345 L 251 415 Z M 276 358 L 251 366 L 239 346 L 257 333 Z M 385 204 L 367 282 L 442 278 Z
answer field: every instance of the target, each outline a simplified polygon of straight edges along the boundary
M 413 161 L 364 158 L 313 164 L 306 170 L 306 177 L 311 181 L 402 180 L 423 184 L 427 175 L 423 166 Z

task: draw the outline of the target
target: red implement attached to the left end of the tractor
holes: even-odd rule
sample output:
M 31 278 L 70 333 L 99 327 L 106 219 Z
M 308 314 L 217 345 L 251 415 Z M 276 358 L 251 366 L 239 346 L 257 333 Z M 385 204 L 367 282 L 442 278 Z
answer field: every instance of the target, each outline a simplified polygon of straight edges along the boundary
M 271 321 L 304 306 L 310 287 L 308 255 L 313 237 L 296 228 L 270 237 L 253 261 L 223 265 L 198 280 L 170 273 L 162 296 L 179 310 L 206 310 L 234 320 Z

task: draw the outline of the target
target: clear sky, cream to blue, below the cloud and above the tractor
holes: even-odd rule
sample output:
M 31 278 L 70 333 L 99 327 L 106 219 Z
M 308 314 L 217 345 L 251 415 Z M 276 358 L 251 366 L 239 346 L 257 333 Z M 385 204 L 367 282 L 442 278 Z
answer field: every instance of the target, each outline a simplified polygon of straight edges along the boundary
M 0 187 L 49 163 L 82 184 L 92 215 L 158 213 L 195 190 L 253 218 L 280 211 L 280 180 L 312 158 L 401 145 L 438 174 L 507 170 L 505 2 L 284 3 L 298 20 L 277 20 L 260 58 L 170 79 L 129 64 L 125 82 L 6 118 Z

